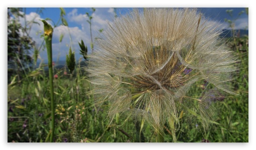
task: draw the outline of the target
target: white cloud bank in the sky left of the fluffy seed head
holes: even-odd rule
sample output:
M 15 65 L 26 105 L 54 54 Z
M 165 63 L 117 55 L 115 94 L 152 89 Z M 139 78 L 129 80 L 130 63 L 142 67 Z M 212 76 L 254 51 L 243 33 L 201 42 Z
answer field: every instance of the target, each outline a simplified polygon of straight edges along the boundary
M 105 10 L 107 12 L 108 9 Z M 99 13 L 100 12 L 100 13 Z M 95 14 L 93 14 L 92 19 L 92 29 L 93 28 L 103 28 L 105 25 L 106 20 L 101 19 L 99 16 L 101 13 L 105 13 L 104 11 L 95 11 Z M 108 14 L 111 13 L 107 12 Z M 102 16 L 102 15 L 101 15 Z M 44 38 L 41 37 L 43 34 L 43 23 L 42 21 L 43 18 L 40 17 L 38 13 L 31 12 L 29 14 L 26 14 L 26 21 L 27 25 L 31 24 L 31 30 L 29 31 L 29 35 L 36 41 L 37 46 L 39 47 L 42 42 L 44 42 Z M 74 21 L 78 24 L 81 25 L 81 29 L 78 26 L 75 27 L 67 27 L 64 25 L 60 25 L 54 28 L 53 32 L 53 60 L 56 60 L 57 58 L 64 59 L 66 57 L 66 54 L 68 53 L 69 47 L 72 47 L 72 50 L 75 50 L 75 56 L 76 59 L 81 57 L 79 54 L 79 44 L 78 42 L 81 41 L 81 39 L 85 42 L 85 44 L 88 47 L 88 52 L 90 52 L 90 30 L 89 30 L 89 25 L 86 20 L 88 20 L 88 16 L 86 14 L 78 14 L 77 9 L 73 9 L 71 12 L 68 13 L 68 21 Z M 28 23 L 28 22 L 38 22 L 37 23 Z M 21 24 L 24 26 L 25 25 L 25 20 L 24 18 L 20 18 Z M 51 21 L 48 21 L 52 26 L 53 24 Z M 59 42 L 60 35 L 64 34 L 64 37 L 62 39 L 62 42 Z M 96 32 L 93 31 L 93 35 L 96 35 Z M 71 37 L 71 38 L 70 38 Z M 71 43 L 72 40 L 72 43 Z M 40 51 L 40 57 L 44 60 L 47 60 L 47 50 L 44 49 Z

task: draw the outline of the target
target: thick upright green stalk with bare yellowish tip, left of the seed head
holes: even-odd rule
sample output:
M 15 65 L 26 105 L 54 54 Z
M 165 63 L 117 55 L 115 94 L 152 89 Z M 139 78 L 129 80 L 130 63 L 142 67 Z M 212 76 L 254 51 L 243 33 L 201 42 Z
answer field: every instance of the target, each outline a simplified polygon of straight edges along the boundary
M 54 128 L 55 128 L 55 106 L 54 106 L 54 96 L 53 96 L 53 70 L 52 70 L 52 33 L 53 28 L 50 24 L 48 24 L 45 20 L 42 20 L 44 23 L 44 38 L 47 48 L 47 55 L 48 55 L 48 67 L 49 67 L 49 82 L 50 82 L 50 95 L 51 95 L 51 115 L 52 115 L 52 131 L 50 142 L 53 142 L 54 136 Z

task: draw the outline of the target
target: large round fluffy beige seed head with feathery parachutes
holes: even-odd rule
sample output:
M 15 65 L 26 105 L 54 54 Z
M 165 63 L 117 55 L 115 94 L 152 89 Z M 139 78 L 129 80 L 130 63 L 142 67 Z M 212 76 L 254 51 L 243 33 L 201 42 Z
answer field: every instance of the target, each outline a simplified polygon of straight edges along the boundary
M 184 110 L 207 126 L 211 102 L 223 92 L 234 94 L 230 82 L 237 69 L 217 25 L 189 8 L 134 9 L 116 18 L 86 68 L 96 104 L 110 102 L 110 120 L 126 112 L 162 129 Z M 194 91 L 204 80 L 207 86 Z

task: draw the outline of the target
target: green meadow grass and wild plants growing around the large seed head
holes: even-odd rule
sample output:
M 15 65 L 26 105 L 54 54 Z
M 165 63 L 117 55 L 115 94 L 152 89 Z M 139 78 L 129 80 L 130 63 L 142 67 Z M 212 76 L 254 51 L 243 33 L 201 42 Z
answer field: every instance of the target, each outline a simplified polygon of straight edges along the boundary
M 239 96 L 223 96 L 211 103 L 216 108 L 214 121 L 219 124 L 210 124 L 206 130 L 199 120 L 191 119 L 191 114 L 181 110 L 180 124 L 176 124 L 178 142 L 248 142 L 248 36 L 235 36 L 226 40 L 240 60 L 237 62 L 240 69 L 233 81 L 234 91 Z M 81 49 L 83 50 L 82 47 Z M 147 123 L 140 132 L 142 122 L 132 118 L 125 120 L 126 117 L 118 114 L 112 124 L 108 124 L 109 103 L 106 101 L 101 107 L 93 105 L 94 97 L 88 95 L 90 84 L 82 62 L 80 59 L 75 64 L 72 73 L 67 67 L 53 66 L 53 141 L 155 142 L 157 133 Z M 193 88 L 194 94 L 200 93 L 202 88 L 204 82 L 196 84 Z M 51 119 L 48 70 L 40 66 L 14 71 L 8 82 L 8 142 L 50 141 Z M 168 125 L 165 126 L 164 140 L 173 141 Z

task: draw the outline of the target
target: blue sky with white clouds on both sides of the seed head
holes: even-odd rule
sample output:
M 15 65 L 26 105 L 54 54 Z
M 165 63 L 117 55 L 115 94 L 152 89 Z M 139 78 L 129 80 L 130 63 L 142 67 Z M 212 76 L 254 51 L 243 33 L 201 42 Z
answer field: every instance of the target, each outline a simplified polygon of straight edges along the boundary
M 104 29 L 107 26 L 107 21 L 112 21 L 114 19 L 114 15 L 117 16 L 123 15 L 125 13 L 129 13 L 132 10 L 131 7 L 100 7 L 95 8 L 95 12 L 92 13 L 92 8 L 82 8 L 82 7 L 64 7 L 66 15 L 64 16 L 68 22 L 68 27 L 64 25 L 58 25 L 54 28 L 53 33 L 53 60 L 56 62 L 58 60 L 65 60 L 66 54 L 68 53 L 69 47 L 72 47 L 72 50 L 75 50 L 76 59 L 82 57 L 79 54 L 79 45 L 78 42 L 83 39 L 85 44 L 88 46 L 88 53 L 91 52 L 90 49 L 90 30 L 88 20 L 88 16 L 86 12 L 93 16 L 92 18 L 92 35 L 96 37 L 98 35 L 99 29 Z M 233 10 L 233 17 L 229 16 L 226 13 L 226 10 Z M 54 25 L 57 23 L 60 18 L 60 8 L 59 7 L 46 7 L 40 9 L 39 7 L 27 7 L 25 10 L 26 20 L 32 20 L 38 22 L 38 24 L 33 24 L 30 36 L 36 41 L 38 46 L 44 42 L 43 38 L 40 35 L 43 33 L 43 24 L 39 19 L 50 18 L 52 21 L 48 21 L 50 24 Z M 42 10 L 39 13 L 39 10 Z M 238 17 L 238 13 L 240 11 L 245 11 L 244 8 L 238 7 L 201 7 L 198 8 L 198 11 L 202 12 L 208 19 L 219 21 L 222 25 L 222 28 L 228 28 L 228 24 L 224 22 L 224 18 L 232 19 Z M 24 19 L 21 19 L 21 23 L 24 24 Z M 248 28 L 248 15 L 242 13 L 235 20 L 235 28 L 244 29 Z M 61 34 L 64 34 L 62 42 L 59 42 L 59 37 Z M 70 38 L 71 37 L 71 38 Z M 72 42 L 71 42 L 72 41 Z M 46 50 L 40 51 L 39 61 L 47 61 L 47 52 Z

